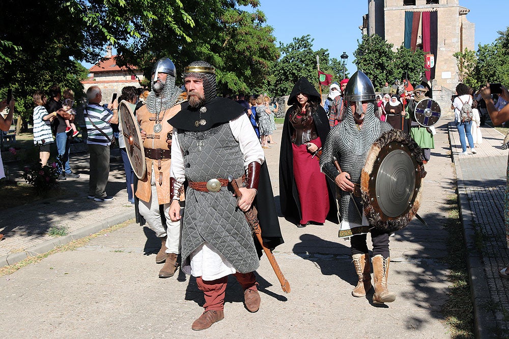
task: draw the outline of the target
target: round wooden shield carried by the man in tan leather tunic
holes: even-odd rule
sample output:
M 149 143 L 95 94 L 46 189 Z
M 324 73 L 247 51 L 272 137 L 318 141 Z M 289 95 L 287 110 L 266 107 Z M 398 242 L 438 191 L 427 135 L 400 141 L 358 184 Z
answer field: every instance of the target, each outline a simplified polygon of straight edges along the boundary
M 133 113 L 135 107 L 135 105 L 122 100 L 119 106 L 119 121 L 132 170 L 138 179 L 143 179 L 147 173 L 147 164 L 142 136 L 139 134 L 138 120 Z

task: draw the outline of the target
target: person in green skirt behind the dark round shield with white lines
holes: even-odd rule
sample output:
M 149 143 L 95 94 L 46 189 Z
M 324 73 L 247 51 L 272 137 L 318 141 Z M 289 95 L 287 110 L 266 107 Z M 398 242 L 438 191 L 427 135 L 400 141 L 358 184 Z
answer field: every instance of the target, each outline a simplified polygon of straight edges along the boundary
M 427 91 L 428 91 L 428 89 L 426 89 L 426 87 L 424 87 L 423 85 L 415 86 L 415 89 L 413 90 L 414 99 L 413 100 L 410 99 L 408 101 L 408 105 L 406 108 L 407 112 L 410 115 L 414 114 L 415 107 L 417 106 L 417 104 L 420 101 L 422 101 L 424 99 L 428 99 L 428 97 L 426 97 Z M 425 163 L 425 164 L 428 163 L 428 161 L 430 161 L 431 148 L 435 148 L 435 140 L 433 138 L 433 132 L 434 132 L 433 127 L 427 128 L 427 127 L 420 126 L 417 121 L 412 119 L 411 127 L 410 127 L 410 136 L 415 140 L 417 145 L 419 145 L 419 147 L 422 149 L 422 158 L 424 159 L 423 163 Z

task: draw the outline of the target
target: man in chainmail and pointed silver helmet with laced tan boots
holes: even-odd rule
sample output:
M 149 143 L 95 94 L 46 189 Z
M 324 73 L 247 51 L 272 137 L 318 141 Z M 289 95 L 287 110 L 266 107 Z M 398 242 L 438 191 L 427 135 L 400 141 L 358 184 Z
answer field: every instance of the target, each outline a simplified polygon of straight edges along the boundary
M 373 241 L 374 303 L 391 302 L 395 295 L 387 289 L 389 234 L 370 226 L 362 208 L 360 177 L 373 143 L 392 127 L 375 115 L 375 88 L 371 80 L 357 71 L 348 81 L 344 100 L 347 111 L 343 121 L 332 128 L 322 148 L 322 172 L 334 180 L 340 210 L 339 236 L 350 238 L 352 259 L 358 275 L 354 297 L 371 289 L 371 268 L 366 235 Z M 337 163 L 335 160 L 337 159 Z

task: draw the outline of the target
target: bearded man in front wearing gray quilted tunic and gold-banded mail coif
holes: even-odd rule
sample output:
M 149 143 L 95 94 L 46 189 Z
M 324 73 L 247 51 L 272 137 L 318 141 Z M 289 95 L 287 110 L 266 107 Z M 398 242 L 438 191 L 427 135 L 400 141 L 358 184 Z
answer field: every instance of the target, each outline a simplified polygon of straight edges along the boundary
M 169 123 L 172 144 L 172 206 L 180 216 L 179 190 L 187 179 L 182 227 L 182 270 L 196 277 L 205 295 L 205 312 L 191 328 L 203 330 L 224 318 L 228 275 L 235 274 L 249 312 L 260 307 L 253 271 L 259 266 L 252 233 L 244 217 L 251 204 L 258 208 L 264 244 L 282 243 L 263 149 L 244 108 L 216 97 L 215 68 L 194 61 L 184 70 L 188 102 Z M 232 195 L 228 177 L 239 183 L 242 197 Z

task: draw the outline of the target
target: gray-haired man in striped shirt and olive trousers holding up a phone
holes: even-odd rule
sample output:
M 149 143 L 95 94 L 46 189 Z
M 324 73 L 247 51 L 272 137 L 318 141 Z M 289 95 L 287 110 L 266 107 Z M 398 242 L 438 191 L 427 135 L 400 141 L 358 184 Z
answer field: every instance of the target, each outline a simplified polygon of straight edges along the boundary
M 119 122 L 119 103 L 113 102 L 113 114 L 100 105 L 102 101 L 101 89 L 91 86 L 87 89 L 89 104 L 83 111 L 87 125 L 87 144 L 90 151 L 90 181 L 89 199 L 95 201 L 109 201 L 113 197 L 106 194 L 106 184 L 109 176 L 109 146 L 113 139 L 110 124 Z

